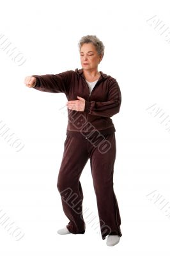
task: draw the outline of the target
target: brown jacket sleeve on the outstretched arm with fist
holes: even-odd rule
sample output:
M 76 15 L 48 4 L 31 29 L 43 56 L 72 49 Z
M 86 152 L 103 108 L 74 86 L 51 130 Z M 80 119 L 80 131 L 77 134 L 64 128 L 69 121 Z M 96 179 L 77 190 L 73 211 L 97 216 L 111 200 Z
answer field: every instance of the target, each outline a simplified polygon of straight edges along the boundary
M 36 77 L 36 84 L 33 88 L 42 92 L 63 92 L 67 95 L 72 78 L 72 72 L 73 70 L 67 70 L 56 75 L 33 75 L 33 77 Z

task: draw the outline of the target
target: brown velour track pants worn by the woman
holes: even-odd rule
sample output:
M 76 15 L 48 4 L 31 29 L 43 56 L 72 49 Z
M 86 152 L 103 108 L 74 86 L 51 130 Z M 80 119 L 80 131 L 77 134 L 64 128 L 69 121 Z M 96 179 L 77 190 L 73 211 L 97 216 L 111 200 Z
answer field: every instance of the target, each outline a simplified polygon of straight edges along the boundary
M 84 234 L 86 229 L 82 214 L 83 193 L 79 179 L 90 159 L 102 239 L 109 234 L 122 236 L 120 211 L 113 189 L 115 158 L 115 132 L 88 138 L 66 136 L 57 188 L 61 195 L 63 211 L 70 220 L 66 227 L 71 233 Z

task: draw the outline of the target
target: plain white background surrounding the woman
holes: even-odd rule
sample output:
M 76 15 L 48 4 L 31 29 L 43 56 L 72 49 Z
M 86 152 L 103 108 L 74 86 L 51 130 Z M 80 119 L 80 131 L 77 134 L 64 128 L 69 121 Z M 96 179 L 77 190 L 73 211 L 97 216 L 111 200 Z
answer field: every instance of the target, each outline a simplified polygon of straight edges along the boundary
M 0 35 L 26 58 L 19 66 L 0 49 L 0 121 L 25 145 L 16 152 L 0 136 L 0 217 L 5 212 L 24 232 L 16 241 L 0 225 L 2 255 L 169 255 L 170 218 L 147 196 L 157 191 L 170 200 L 170 133 L 147 110 L 155 104 L 170 116 L 170 44 L 147 22 L 154 15 L 169 27 L 169 1 L 1 1 Z M 67 124 L 59 109 L 66 96 L 24 84 L 25 76 L 81 68 L 77 44 L 84 35 L 104 43 L 98 70 L 116 78 L 122 95 L 120 113 L 112 116 L 122 232 L 113 247 L 88 224 L 84 235 L 57 234 L 68 223 L 56 187 Z M 89 161 L 81 184 L 84 207 L 98 216 Z

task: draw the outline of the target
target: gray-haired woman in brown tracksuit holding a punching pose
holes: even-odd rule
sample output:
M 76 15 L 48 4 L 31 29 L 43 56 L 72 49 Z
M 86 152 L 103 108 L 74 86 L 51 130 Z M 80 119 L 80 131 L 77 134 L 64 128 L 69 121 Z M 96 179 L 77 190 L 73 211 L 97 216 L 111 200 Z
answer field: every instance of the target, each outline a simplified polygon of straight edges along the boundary
M 97 198 L 102 239 L 113 246 L 120 241 L 121 218 L 113 189 L 116 158 L 115 127 L 111 116 L 120 111 L 121 92 L 115 78 L 98 71 L 104 44 L 95 35 L 79 41 L 81 69 L 59 74 L 25 78 L 26 86 L 42 92 L 65 93 L 68 125 L 57 188 L 69 223 L 58 234 L 84 234 L 80 177 L 90 160 L 93 187 Z

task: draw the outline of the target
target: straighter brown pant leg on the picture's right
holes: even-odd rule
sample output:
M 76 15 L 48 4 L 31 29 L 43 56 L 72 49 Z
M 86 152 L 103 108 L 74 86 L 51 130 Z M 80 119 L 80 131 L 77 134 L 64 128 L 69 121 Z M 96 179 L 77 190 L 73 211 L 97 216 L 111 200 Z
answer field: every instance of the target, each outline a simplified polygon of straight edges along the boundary
M 120 211 L 113 189 L 114 161 L 116 158 L 115 133 L 107 134 L 104 137 L 95 138 L 88 142 L 102 239 L 105 239 L 108 234 L 122 236 Z

